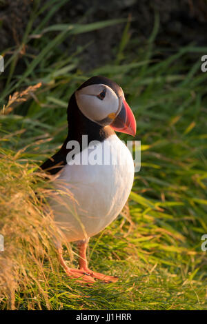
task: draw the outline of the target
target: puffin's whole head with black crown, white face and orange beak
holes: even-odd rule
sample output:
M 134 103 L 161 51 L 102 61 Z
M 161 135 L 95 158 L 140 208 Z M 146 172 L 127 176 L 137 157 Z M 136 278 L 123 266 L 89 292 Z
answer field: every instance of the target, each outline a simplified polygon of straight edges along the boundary
M 136 121 L 124 98 L 124 92 L 106 77 L 92 77 L 72 94 L 68 105 L 69 131 L 88 134 L 103 128 L 135 134 Z M 84 133 L 83 133 L 84 132 Z M 111 131 L 110 131 L 111 132 Z

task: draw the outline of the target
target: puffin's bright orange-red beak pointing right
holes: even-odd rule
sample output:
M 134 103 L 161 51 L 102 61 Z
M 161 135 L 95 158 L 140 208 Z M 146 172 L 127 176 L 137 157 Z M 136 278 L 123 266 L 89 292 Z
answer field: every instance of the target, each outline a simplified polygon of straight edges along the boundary
M 110 124 L 110 127 L 116 132 L 126 133 L 132 136 L 136 134 L 137 125 L 135 116 L 124 98 L 122 99 L 121 110 Z

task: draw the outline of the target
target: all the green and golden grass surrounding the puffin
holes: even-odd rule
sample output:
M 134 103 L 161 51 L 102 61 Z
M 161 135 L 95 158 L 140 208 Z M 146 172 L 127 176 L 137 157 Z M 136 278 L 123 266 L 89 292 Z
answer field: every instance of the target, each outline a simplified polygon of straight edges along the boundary
M 1 53 L 8 71 L 1 73 L 5 87 L 0 98 L 1 309 L 206 310 L 207 254 L 201 251 L 201 236 L 207 234 L 207 73 L 200 70 L 200 57 L 207 48 L 188 45 L 164 58 L 164 49 L 155 46 L 156 15 L 146 44 L 130 39 L 130 22 L 124 23 L 115 61 L 86 75 L 79 70 L 83 48 L 68 57 L 61 43 L 118 22 L 48 24 L 65 2 L 51 0 L 40 8 L 34 1 L 21 45 L 10 49 L 12 55 Z M 44 10 L 48 14 L 34 28 Z M 22 74 L 16 70 L 20 60 Z M 38 165 L 65 139 L 70 95 L 96 74 L 124 89 L 137 119 L 141 170 L 135 174 L 130 213 L 126 208 L 90 241 L 90 267 L 120 279 L 88 287 L 68 279 L 57 262 L 55 225 L 48 225 L 44 207 L 50 186 Z M 18 93 L 8 99 L 14 91 Z M 75 266 L 75 245 L 72 250 L 65 248 L 65 257 Z

